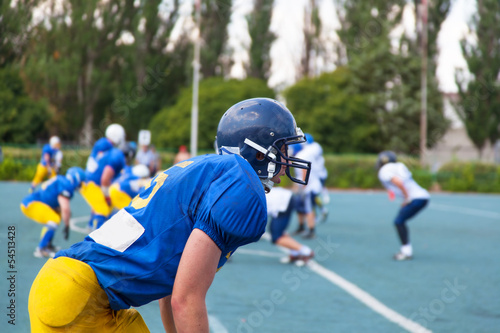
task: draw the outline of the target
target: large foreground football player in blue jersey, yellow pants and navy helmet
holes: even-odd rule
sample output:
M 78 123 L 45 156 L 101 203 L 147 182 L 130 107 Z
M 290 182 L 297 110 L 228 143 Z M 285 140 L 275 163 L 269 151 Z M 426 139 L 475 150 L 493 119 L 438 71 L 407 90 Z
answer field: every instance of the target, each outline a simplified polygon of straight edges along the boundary
M 304 141 L 281 103 L 235 104 L 217 128 L 220 155 L 178 163 L 153 178 L 129 206 L 82 242 L 56 254 L 30 291 L 35 332 L 149 332 L 137 310 L 159 300 L 167 332 L 209 332 L 206 293 L 234 251 L 260 239 L 265 192 L 290 167 Z M 50 293 L 50 297 L 48 294 Z

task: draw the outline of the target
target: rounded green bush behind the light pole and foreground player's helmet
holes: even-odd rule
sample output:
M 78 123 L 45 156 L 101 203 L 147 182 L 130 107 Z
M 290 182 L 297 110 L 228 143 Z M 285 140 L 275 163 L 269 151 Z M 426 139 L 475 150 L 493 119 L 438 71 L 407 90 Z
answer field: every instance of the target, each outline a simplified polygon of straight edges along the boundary
M 237 102 L 253 97 L 274 97 L 274 92 L 259 79 L 224 80 L 209 78 L 200 82 L 198 147 L 213 150 L 217 125 L 224 112 Z M 171 107 L 162 109 L 150 129 L 159 147 L 189 145 L 191 133 L 192 89 L 184 88 Z

